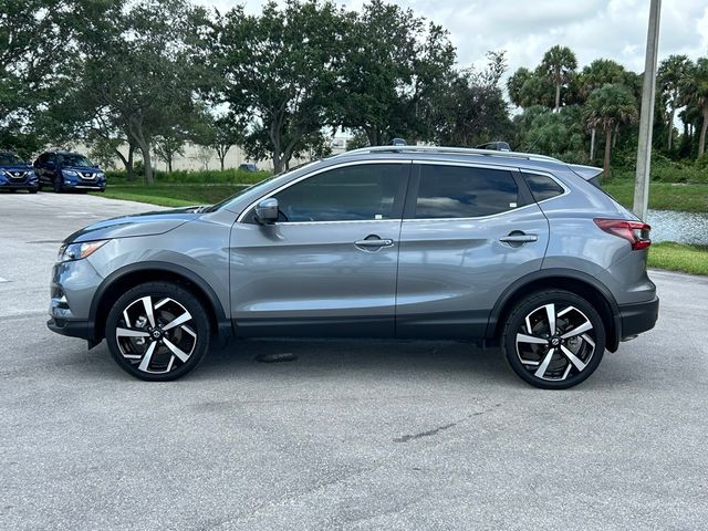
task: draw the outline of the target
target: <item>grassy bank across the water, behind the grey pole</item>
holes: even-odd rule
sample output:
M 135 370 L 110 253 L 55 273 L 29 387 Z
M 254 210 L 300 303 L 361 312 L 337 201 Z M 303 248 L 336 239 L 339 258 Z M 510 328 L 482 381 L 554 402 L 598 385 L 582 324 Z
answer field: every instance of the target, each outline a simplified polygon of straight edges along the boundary
M 634 181 L 614 179 L 603 183 L 602 187 L 622 205 L 632 208 L 634 202 Z M 708 185 L 652 183 L 649 208 L 708 212 Z

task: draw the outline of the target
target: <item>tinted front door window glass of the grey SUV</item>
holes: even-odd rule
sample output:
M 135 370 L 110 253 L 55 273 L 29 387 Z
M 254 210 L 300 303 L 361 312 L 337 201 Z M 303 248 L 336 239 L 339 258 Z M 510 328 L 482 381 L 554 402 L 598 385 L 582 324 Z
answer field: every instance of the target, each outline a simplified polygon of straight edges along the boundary
M 389 219 L 406 171 L 403 164 L 346 166 L 304 179 L 274 197 L 288 221 Z

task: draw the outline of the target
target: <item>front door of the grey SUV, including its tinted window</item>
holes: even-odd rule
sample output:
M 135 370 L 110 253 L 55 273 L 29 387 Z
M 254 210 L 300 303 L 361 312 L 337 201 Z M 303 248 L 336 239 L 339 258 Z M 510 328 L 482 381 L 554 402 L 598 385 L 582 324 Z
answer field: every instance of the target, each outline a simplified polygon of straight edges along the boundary
M 285 185 L 280 218 L 233 225 L 231 309 L 241 336 L 393 336 L 409 162 L 350 163 Z

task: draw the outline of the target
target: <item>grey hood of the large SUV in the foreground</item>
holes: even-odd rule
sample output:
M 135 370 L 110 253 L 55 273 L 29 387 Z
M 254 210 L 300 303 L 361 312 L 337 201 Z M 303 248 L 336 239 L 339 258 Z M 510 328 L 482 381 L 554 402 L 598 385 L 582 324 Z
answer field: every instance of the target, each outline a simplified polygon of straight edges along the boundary
M 106 219 L 77 230 L 64 243 L 163 235 L 198 218 L 200 214 L 196 209 L 185 207 Z

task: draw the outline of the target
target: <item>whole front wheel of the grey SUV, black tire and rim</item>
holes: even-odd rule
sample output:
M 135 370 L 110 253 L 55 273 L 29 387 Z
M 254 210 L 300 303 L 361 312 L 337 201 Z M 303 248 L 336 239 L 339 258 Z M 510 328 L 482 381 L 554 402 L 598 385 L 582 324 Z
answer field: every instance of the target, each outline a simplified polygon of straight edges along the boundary
M 189 319 L 181 321 L 185 315 Z M 178 324 L 170 327 L 173 322 Z M 190 291 L 169 282 L 147 282 L 113 304 L 105 336 L 113 360 L 125 372 L 148 382 L 167 382 L 199 364 L 209 350 L 211 331 L 206 309 Z

